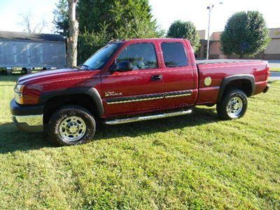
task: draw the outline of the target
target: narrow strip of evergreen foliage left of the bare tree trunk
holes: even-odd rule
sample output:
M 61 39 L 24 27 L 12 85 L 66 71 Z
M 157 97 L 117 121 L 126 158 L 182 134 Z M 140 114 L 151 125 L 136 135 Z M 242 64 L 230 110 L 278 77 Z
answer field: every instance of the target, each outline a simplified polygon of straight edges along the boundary
M 59 0 L 55 4 L 56 8 L 53 10 L 53 24 L 54 32 L 61 34 L 65 38 L 69 36 L 69 18 L 68 18 L 68 2 L 67 0 Z

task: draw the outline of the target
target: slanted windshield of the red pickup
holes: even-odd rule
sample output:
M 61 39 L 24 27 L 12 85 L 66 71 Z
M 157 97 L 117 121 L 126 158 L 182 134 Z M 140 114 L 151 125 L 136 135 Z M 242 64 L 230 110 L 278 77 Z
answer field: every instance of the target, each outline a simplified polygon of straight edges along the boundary
M 85 69 L 100 69 L 114 52 L 120 47 L 121 43 L 110 43 L 104 48 L 95 52 L 89 59 L 87 59 L 82 67 Z

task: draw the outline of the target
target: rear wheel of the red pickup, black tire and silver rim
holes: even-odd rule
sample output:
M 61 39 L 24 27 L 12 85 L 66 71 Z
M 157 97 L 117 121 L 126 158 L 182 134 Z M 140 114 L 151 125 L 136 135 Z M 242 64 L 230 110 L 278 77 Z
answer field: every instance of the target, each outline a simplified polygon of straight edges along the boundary
M 235 101 L 237 102 L 234 103 Z M 238 106 L 237 110 L 235 110 L 235 104 L 237 104 Z M 239 104 L 241 104 L 241 108 Z M 222 102 L 217 104 L 216 110 L 220 118 L 223 118 L 225 120 L 232 120 L 243 117 L 246 113 L 247 106 L 248 100 L 245 92 L 241 90 L 231 90 L 230 92 L 225 94 Z M 235 113 L 235 111 L 237 112 Z

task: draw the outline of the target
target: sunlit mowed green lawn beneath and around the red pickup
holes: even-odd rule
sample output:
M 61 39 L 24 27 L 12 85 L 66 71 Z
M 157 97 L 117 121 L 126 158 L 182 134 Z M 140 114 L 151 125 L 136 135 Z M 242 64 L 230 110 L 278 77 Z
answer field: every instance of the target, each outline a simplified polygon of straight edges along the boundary
M 0 209 L 280 209 L 279 82 L 239 120 L 201 106 L 57 148 L 14 127 L 0 77 Z

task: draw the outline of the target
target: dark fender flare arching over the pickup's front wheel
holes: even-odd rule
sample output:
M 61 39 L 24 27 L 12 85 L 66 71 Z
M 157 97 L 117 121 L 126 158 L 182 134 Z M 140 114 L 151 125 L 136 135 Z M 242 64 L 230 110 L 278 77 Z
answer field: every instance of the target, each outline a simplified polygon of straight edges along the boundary
M 102 98 L 99 92 L 94 87 L 74 87 L 61 90 L 52 90 L 49 92 L 44 92 L 38 99 L 38 104 L 45 104 L 49 99 L 53 97 L 66 96 L 71 94 L 87 94 L 97 106 L 97 113 L 99 118 L 104 114 L 104 106 L 102 103 Z

